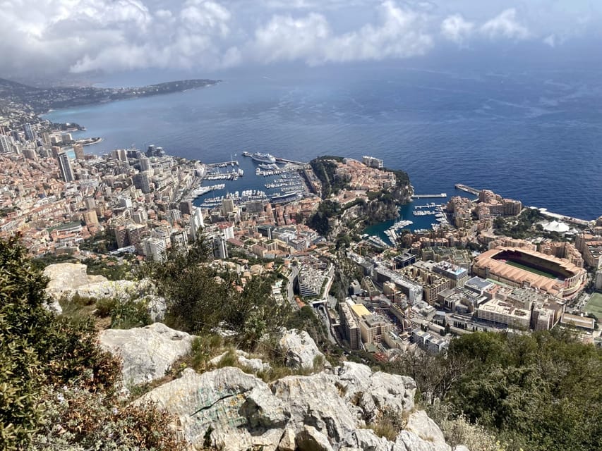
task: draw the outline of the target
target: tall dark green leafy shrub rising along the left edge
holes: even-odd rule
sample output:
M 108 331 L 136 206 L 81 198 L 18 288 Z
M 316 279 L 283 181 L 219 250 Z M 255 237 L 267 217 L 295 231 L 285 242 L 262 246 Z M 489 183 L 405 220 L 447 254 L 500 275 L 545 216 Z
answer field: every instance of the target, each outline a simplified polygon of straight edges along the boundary
M 47 390 L 75 383 L 82 400 L 108 399 L 121 366 L 97 345 L 88 317 L 74 320 L 47 309 L 47 284 L 13 238 L 0 240 L 0 440 L 3 450 L 25 450 L 52 425 Z M 69 409 L 78 412 L 76 409 Z M 80 412 L 83 415 L 82 412 Z M 83 415 L 82 418 L 84 418 Z M 92 419 L 90 419 L 92 421 Z M 140 423 L 138 423 L 140 426 Z M 126 426 L 124 426 L 126 427 Z M 53 429 L 54 430 L 54 429 Z M 56 429 L 56 431 L 60 431 Z M 37 435 L 36 435 L 37 434 Z M 50 449 L 65 447 L 49 446 Z M 166 448 L 167 449 L 167 448 Z

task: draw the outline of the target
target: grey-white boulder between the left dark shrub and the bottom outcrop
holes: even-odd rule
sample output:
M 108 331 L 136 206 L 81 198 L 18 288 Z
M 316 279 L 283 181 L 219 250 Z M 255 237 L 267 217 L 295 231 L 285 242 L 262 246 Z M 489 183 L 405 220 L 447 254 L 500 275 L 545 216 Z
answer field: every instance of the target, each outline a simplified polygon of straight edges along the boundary
M 162 323 L 127 330 L 108 329 L 100 335 L 104 350 L 123 359 L 126 384 L 162 378 L 171 365 L 191 350 L 193 335 L 170 329 Z

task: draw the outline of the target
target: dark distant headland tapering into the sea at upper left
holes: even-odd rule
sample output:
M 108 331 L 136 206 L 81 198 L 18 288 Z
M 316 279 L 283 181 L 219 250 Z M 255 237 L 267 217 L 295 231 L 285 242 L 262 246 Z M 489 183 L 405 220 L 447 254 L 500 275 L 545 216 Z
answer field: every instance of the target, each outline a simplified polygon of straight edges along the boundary
M 220 80 L 178 80 L 144 87 L 50 87 L 37 88 L 0 78 L 0 104 L 36 114 L 50 109 L 99 104 L 114 100 L 149 97 L 215 85 Z

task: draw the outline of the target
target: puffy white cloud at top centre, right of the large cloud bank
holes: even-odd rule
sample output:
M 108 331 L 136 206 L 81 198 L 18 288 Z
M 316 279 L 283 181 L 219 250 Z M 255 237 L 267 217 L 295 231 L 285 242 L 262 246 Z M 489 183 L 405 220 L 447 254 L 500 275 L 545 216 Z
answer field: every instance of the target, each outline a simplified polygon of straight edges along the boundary
M 338 35 L 319 13 L 302 18 L 273 16 L 255 32 L 249 57 L 260 62 L 299 60 L 317 65 L 407 58 L 431 49 L 433 39 L 424 31 L 424 18 L 419 13 L 385 1 L 378 8 L 378 16 L 377 25 L 363 25 Z

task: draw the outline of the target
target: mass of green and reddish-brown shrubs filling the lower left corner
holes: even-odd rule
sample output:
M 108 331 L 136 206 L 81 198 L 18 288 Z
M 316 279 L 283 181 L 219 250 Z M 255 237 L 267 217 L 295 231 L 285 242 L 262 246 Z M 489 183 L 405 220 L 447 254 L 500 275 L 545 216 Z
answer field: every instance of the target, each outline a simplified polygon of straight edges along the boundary
M 16 239 L 0 240 L 1 449 L 176 449 L 164 414 L 119 400 L 120 362 L 91 319 L 47 309 L 46 284 Z

